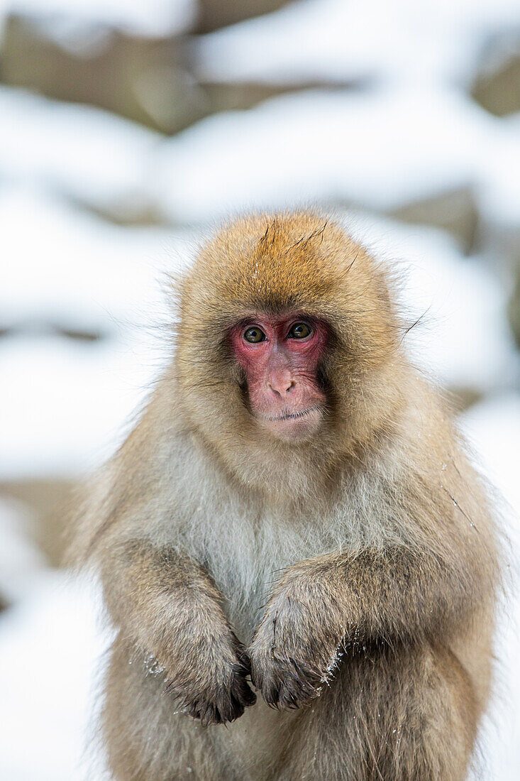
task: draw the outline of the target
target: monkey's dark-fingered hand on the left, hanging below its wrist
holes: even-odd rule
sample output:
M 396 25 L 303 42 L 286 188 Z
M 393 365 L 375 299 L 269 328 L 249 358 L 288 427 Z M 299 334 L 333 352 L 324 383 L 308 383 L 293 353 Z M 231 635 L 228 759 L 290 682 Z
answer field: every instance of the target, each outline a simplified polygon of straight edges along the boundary
M 167 675 L 166 691 L 176 708 L 204 726 L 238 719 L 255 704 L 246 676 L 249 660 L 244 647 L 229 629 L 212 628 L 199 637 L 188 636 L 176 644 L 175 662 Z

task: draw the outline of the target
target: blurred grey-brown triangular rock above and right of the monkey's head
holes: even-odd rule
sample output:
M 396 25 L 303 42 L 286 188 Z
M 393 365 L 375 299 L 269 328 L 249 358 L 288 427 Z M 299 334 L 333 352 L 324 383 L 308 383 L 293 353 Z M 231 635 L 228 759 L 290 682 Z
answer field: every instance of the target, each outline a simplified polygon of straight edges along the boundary
M 461 250 L 466 255 L 475 248 L 479 212 L 469 187 L 415 201 L 391 212 L 391 216 L 405 223 L 432 225 L 447 230 L 459 240 Z

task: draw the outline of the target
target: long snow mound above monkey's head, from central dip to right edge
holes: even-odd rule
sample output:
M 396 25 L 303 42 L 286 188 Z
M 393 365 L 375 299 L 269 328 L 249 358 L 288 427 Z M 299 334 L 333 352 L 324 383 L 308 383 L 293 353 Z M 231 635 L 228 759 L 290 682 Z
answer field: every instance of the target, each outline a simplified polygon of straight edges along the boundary
M 495 161 L 513 181 L 508 159 L 520 159 L 520 135 L 457 91 L 309 90 L 164 141 L 152 181 L 158 208 L 189 223 L 314 201 L 390 210 L 467 185 L 485 193 Z M 508 212 L 520 219 L 516 189 Z

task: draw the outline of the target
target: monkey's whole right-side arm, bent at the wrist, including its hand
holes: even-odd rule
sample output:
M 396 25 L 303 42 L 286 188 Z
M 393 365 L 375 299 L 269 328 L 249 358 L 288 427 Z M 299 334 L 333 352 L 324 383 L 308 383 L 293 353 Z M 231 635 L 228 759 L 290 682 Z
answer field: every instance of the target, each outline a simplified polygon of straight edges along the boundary
M 486 590 L 486 572 L 462 551 L 445 558 L 395 546 L 300 562 L 276 585 L 255 633 L 253 683 L 269 704 L 297 707 L 332 677 L 342 647 L 447 637 Z

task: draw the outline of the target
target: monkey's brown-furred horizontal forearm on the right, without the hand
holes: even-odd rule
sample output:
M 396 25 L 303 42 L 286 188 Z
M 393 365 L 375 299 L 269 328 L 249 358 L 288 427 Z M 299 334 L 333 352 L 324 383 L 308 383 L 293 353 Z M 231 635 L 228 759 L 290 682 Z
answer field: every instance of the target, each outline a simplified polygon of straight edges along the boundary
M 486 576 L 461 556 L 404 547 L 327 555 L 287 570 L 280 593 L 322 604 L 344 640 L 406 640 L 446 633 L 485 597 Z

